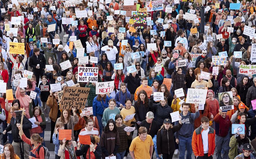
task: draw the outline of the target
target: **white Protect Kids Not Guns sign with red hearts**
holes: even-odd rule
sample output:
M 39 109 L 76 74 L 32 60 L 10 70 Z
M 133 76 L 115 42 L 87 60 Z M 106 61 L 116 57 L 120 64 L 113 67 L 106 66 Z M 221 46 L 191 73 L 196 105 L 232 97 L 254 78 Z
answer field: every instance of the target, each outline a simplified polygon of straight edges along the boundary
M 78 67 L 78 82 L 98 82 L 98 67 Z

